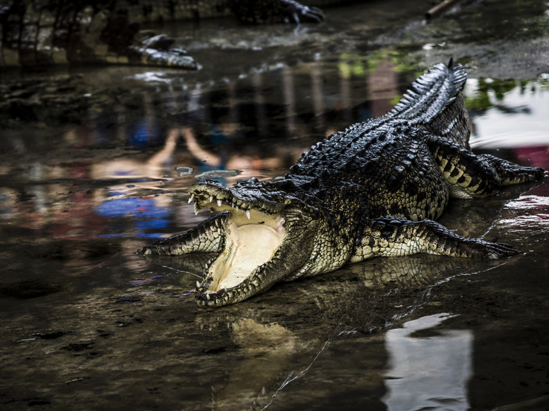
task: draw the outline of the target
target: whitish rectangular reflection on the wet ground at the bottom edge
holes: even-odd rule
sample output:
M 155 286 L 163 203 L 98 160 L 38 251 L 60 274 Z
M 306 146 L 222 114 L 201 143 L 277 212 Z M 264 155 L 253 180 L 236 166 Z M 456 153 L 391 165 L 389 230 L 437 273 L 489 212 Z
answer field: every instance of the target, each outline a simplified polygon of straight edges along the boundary
M 388 393 L 383 401 L 390 411 L 469 409 L 467 382 L 473 369 L 473 333 L 435 328 L 449 317 L 421 317 L 386 333 Z

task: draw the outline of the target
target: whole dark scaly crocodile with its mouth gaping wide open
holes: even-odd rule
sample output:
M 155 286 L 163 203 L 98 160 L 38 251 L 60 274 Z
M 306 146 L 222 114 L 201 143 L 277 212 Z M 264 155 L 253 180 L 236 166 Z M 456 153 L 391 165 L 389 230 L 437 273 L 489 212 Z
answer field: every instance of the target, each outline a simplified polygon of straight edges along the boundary
M 471 151 L 466 80 L 465 67 L 452 59 L 436 64 L 393 110 L 316 143 L 280 179 L 251 177 L 231 188 L 197 182 L 189 203 L 195 212 L 218 214 L 137 252 L 213 253 L 194 292 L 202 307 L 373 257 L 513 256 L 511 245 L 464 238 L 434 221 L 450 197 L 489 197 L 544 175 L 539 167 Z

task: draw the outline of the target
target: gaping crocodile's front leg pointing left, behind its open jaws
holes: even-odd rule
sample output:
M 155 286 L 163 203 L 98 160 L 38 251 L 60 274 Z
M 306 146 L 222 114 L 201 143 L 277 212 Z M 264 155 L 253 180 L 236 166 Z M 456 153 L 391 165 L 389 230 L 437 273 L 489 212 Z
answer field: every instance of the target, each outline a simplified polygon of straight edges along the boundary
M 224 222 L 229 212 L 220 212 L 202 221 L 183 234 L 141 247 L 137 253 L 155 256 L 174 256 L 189 253 L 217 253 L 224 236 Z

